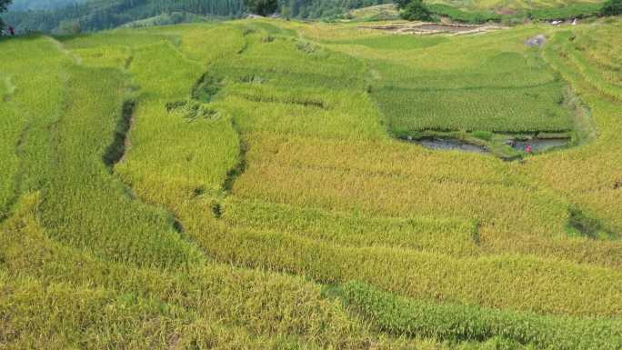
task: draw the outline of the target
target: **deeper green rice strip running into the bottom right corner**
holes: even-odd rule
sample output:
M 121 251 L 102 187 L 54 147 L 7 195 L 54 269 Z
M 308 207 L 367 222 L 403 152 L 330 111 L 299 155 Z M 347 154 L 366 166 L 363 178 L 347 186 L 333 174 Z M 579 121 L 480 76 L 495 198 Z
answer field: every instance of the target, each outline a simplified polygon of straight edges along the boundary
M 578 319 L 499 311 L 471 305 L 435 305 L 350 282 L 346 302 L 387 332 L 436 339 L 485 340 L 494 336 L 546 349 L 620 349 L 619 320 Z

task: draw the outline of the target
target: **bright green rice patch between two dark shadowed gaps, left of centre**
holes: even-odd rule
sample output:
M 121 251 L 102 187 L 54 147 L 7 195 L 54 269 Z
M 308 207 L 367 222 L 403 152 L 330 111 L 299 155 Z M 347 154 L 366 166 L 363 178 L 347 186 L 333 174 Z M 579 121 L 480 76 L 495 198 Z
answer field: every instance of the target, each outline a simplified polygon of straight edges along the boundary
M 176 67 L 174 76 L 169 73 L 172 67 Z M 136 105 L 127 162 L 116 166 L 129 183 L 131 175 L 177 181 L 187 191 L 218 188 L 235 164 L 237 135 L 229 117 L 188 123 L 182 112 L 166 108 L 191 94 L 203 75 L 201 71 L 201 65 L 188 61 L 165 42 L 135 50 L 130 73 L 145 95 Z M 154 149 L 160 152 L 154 153 Z M 157 173 L 151 171 L 153 166 L 159 168 Z

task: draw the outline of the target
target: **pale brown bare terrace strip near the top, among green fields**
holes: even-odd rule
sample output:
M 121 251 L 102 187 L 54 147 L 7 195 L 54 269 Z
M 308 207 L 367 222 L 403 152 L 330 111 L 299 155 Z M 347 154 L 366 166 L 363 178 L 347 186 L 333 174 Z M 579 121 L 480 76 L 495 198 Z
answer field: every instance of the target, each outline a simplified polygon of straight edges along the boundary
M 494 30 L 505 29 L 499 25 L 455 25 L 455 24 L 437 24 L 427 22 L 405 22 L 390 25 L 361 25 L 360 29 L 375 29 L 401 35 L 465 35 L 486 33 Z

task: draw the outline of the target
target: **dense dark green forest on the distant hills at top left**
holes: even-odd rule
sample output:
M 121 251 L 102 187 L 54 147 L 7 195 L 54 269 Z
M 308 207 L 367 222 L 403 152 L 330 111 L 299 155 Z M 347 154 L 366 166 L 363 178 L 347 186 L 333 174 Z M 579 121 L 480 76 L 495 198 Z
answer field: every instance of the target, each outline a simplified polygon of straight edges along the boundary
M 56 0 L 60 1 L 60 0 Z M 37 0 L 19 2 L 27 8 Z M 378 5 L 386 0 L 280 0 L 279 11 L 287 16 L 319 18 L 337 15 L 348 9 Z M 243 0 L 90 0 L 72 2 L 55 9 L 13 11 L 4 15 L 5 22 L 20 32 L 93 31 L 113 28 L 156 15 L 175 12 L 196 15 L 240 17 L 246 15 Z

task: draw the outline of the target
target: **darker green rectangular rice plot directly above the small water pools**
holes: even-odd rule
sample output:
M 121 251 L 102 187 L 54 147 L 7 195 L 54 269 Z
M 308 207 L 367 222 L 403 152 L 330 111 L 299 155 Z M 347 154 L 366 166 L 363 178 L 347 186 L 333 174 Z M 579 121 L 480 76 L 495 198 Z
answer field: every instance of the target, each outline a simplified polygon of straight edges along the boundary
M 569 113 L 559 107 L 563 90 L 557 83 L 511 93 L 486 87 L 437 91 L 386 87 L 376 90 L 375 96 L 391 127 L 398 130 L 528 132 L 571 128 Z

